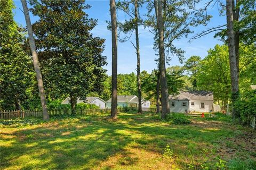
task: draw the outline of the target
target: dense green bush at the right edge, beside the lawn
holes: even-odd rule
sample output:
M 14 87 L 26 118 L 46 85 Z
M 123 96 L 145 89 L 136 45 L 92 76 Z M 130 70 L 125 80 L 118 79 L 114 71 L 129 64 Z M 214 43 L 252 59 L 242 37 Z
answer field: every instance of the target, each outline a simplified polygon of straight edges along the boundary
M 256 90 L 246 91 L 240 94 L 234 103 L 243 123 L 249 123 L 252 116 L 256 116 Z

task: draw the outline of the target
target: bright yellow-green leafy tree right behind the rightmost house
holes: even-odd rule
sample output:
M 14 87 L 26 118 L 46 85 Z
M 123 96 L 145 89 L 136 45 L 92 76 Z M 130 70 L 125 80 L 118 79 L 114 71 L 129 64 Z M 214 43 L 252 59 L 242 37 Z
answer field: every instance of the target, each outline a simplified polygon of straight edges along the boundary
M 226 107 L 230 98 L 228 47 L 216 45 L 197 66 L 197 89 L 209 90 L 214 100 Z

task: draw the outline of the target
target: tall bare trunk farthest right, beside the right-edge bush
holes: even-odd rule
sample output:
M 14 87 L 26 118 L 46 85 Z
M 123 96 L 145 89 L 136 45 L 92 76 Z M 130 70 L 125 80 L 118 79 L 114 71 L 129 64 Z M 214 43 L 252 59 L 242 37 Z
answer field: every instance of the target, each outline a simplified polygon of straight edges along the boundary
M 231 101 L 234 103 L 238 98 L 238 64 L 236 56 L 235 45 L 235 30 L 234 30 L 234 14 L 233 14 L 234 2 L 226 1 L 226 13 L 227 13 L 227 35 L 228 35 L 228 53 L 229 53 L 229 65 L 230 65 L 230 77 L 231 77 Z M 238 112 L 233 107 L 232 116 L 239 117 Z

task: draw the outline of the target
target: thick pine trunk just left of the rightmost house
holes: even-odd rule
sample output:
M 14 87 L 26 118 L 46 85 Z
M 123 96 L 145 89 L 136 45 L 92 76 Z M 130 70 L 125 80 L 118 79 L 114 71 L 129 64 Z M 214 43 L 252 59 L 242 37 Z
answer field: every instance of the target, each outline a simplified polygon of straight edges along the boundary
M 154 0 L 157 18 L 158 28 L 158 47 L 159 47 L 159 72 L 161 78 L 161 94 L 162 94 L 162 115 L 161 118 L 165 118 L 167 113 L 170 113 L 169 101 L 168 101 L 168 89 L 166 81 L 166 70 L 165 70 L 165 57 L 164 57 L 164 30 L 163 30 L 163 6 L 162 1 Z

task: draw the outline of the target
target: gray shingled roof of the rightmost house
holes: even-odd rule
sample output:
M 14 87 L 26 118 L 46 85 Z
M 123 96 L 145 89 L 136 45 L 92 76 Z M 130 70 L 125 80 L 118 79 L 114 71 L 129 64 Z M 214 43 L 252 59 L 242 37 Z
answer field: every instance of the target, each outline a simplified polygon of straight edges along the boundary
M 211 91 L 182 91 L 179 95 L 170 95 L 169 100 L 213 100 L 213 93 Z

